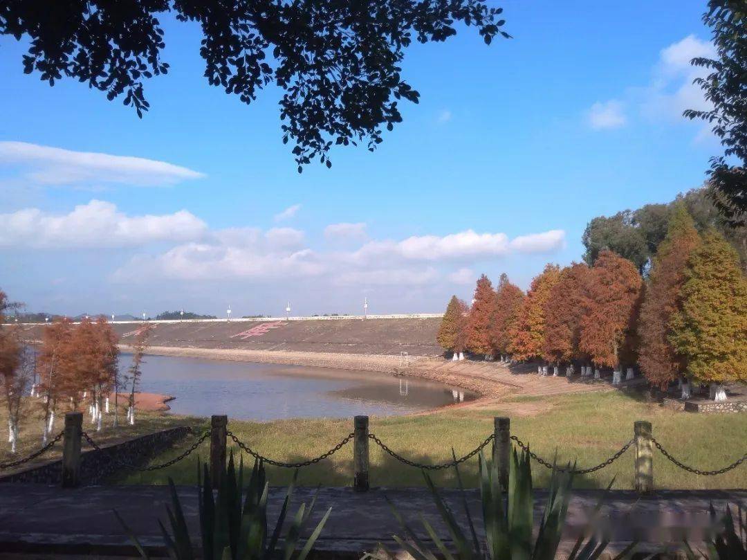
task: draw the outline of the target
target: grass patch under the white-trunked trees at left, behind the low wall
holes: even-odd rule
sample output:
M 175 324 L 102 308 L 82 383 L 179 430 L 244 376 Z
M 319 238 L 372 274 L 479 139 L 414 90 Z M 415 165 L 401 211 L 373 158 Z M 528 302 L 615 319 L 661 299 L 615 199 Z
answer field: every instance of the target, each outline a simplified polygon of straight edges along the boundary
M 55 425 L 52 428 L 50 440 L 57 436 L 65 427 L 65 411 L 58 411 L 55 418 Z M 96 431 L 96 426 L 90 422 L 90 416 L 83 415 L 83 429 L 90 435 L 96 443 L 108 445 L 120 441 L 130 440 L 133 437 L 143 434 L 151 434 L 154 431 L 173 428 L 176 425 L 196 425 L 198 420 L 187 417 L 171 416 L 164 413 L 149 413 L 138 411 L 135 416 L 135 425 L 131 426 L 125 418 L 126 409 L 120 407 L 120 425 L 117 429 L 112 427 L 114 414 L 104 416 L 102 422 L 102 431 Z M 42 426 L 44 423 L 44 412 L 41 399 L 25 399 L 22 422 L 19 426 L 19 440 L 16 446 L 16 453 L 10 453 L 10 443 L 7 443 L 7 437 L 0 439 L 0 463 L 16 461 L 37 451 L 42 443 Z M 7 409 L 0 407 L 0 426 L 7 430 Z M 7 432 L 5 433 L 7 434 Z M 3 435 L 5 435 L 3 434 Z M 84 442 L 83 450 L 90 449 Z M 34 459 L 28 464 L 20 465 L 13 469 L 0 470 L 0 476 L 14 473 L 17 470 L 23 470 L 34 464 L 41 464 L 50 459 L 59 459 L 62 456 L 62 440 L 52 446 L 48 452 Z

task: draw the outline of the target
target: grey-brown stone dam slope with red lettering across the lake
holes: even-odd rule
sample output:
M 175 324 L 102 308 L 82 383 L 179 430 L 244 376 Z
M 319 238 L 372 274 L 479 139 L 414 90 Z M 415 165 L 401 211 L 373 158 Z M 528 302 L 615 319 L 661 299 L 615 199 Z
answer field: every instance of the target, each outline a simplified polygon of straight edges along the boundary
M 285 321 L 154 321 L 150 344 L 171 348 L 436 356 L 441 319 L 306 319 Z M 114 323 L 123 345 L 141 323 Z M 43 325 L 28 327 L 41 338 Z

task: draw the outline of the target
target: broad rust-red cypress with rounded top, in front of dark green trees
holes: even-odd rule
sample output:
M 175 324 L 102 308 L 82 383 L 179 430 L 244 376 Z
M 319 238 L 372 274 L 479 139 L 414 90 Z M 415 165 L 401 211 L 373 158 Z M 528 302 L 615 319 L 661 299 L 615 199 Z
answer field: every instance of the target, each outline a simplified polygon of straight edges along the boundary
M 620 351 L 634 330 L 643 280 L 633 262 L 610 250 L 599 253 L 589 275 L 589 311 L 581 319 L 579 349 L 595 366 L 619 371 Z

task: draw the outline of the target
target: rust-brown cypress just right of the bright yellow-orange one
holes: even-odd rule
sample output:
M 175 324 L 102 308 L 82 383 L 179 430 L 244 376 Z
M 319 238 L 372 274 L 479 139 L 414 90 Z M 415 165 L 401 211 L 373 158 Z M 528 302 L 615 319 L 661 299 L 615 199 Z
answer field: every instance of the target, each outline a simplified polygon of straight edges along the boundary
M 576 262 L 560 271 L 545 312 L 542 357 L 548 362 L 568 363 L 580 358 L 581 318 L 589 308 L 590 275 L 587 265 Z

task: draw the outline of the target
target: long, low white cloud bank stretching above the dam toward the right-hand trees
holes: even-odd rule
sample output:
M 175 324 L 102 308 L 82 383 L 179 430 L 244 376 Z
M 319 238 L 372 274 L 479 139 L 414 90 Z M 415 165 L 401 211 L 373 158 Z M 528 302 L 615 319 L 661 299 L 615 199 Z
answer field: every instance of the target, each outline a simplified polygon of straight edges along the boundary
M 333 224 L 328 235 L 365 233 L 362 224 Z M 511 253 L 546 253 L 562 247 L 565 233 L 509 239 L 505 233 L 472 230 L 446 236 L 412 236 L 401 241 L 367 241 L 356 249 L 317 251 L 304 233 L 289 227 L 216 230 L 170 250 L 142 254 L 114 274 L 114 280 L 249 280 L 258 283 L 304 282 L 304 286 L 410 286 L 470 284 L 470 268 L 455 262 L 485 261 Z M 423 263 L 427 263 L 424 266 Z

